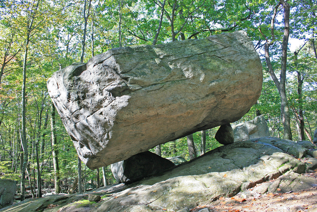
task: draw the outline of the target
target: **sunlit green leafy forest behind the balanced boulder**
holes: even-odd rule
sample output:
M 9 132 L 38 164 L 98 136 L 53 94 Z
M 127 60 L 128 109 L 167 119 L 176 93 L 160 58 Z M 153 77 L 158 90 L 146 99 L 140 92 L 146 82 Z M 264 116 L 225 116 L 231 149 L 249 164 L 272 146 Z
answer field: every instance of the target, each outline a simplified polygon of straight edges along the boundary
M 48 78 L 112 48 L 236 30 L 253 41 L 264 79 L 258 102 L 231 125 L 263 115 L 271 136 L 313 142 L 316 9 L 315 0 L 0 0 L 0 178 L 16 180 L 21 200 L 116 183 L 109 166 L 90 170 L 78 159 Z M 189 160 L 220 146 L 217 129 L 194 133 L 191 154 L 191 136 L 151 151 Z

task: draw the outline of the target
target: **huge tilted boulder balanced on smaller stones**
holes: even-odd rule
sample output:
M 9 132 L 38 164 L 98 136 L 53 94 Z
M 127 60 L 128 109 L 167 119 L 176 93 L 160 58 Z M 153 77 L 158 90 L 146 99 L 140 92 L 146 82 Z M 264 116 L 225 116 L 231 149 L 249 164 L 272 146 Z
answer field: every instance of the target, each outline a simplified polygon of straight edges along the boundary
M 57 71 L 49 95 L 90 168 L 239 120 L 262 89 L 243 31 L 108 50 Z

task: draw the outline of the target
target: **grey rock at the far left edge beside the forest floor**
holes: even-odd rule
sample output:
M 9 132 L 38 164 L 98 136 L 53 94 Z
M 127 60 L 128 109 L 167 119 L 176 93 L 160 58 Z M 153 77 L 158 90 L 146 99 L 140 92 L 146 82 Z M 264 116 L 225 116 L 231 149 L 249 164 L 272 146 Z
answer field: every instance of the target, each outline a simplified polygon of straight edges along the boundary
M 16 182 L 0 179 L 0 209 L 13 204 Z

